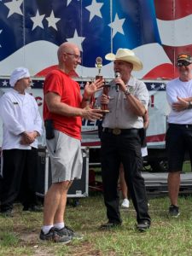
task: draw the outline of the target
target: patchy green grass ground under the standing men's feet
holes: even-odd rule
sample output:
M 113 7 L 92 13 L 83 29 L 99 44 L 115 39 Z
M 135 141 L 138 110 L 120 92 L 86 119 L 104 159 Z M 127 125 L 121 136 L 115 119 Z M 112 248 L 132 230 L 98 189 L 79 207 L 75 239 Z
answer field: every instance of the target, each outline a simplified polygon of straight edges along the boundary
M 146 233 L 135 230 L 136 213 L 121 210 L 123 225 L 113 231 L 98 230 L 107 221 L 102 195 L 92 193 L 67 206 L 66 223 L 84 235 L 68 245 L 39 241 L 43 214 L 22 212 L 15 205 L 14 218 L 0 217 L 0 255 L 192 255 L 192 197 L 179 197 L 181 215 L 168 218 L 168 197 L 149 200 L 152 226 Z

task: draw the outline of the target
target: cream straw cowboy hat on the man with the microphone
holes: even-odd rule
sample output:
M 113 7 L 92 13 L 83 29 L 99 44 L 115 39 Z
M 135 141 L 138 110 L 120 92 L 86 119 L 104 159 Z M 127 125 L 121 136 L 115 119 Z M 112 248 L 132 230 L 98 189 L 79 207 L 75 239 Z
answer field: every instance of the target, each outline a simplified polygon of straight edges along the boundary
M 139 71 L 143 69 L 143 63 L 139 60 L 139 58 L 135 55 L 135 53 L 131 49 L 123 49 L 119 48 L 117 50 L 116 55 L 113 53 L 109 53 L 105 55 L 106 60 L 108 61 L 126 61 L 130 62 L 133 65 L 134 71 Z

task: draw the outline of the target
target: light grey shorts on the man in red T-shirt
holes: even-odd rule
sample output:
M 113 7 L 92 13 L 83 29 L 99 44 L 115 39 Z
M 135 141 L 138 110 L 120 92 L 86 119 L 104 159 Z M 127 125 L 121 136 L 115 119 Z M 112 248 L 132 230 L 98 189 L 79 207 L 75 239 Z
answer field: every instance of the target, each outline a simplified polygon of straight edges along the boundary
M 52 183 L 81 178 L 83 158 L 78 139 L 55 130 L 55 137 L 47 140 L 51 162 Z

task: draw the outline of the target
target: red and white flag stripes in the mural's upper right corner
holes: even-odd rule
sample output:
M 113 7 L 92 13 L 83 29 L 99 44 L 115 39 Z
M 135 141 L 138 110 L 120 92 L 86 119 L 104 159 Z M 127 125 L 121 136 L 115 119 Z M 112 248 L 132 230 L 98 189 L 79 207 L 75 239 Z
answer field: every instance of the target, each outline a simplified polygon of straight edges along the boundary
M 154 0 L 160 39 L 175 63 L 182 52 L 192 54 L 192 1 Z

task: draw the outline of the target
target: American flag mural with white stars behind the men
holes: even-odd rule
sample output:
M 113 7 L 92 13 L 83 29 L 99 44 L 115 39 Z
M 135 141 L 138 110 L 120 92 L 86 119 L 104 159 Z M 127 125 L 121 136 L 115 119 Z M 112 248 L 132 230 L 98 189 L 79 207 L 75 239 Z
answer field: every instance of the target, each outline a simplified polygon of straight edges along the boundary
M 0 0 L 0 76 L 28 67 L 45 75 L 57 64 L 63 42 L 79 45 L 79 77 L 113 77 L 105 61 L 118 48 L 133 49 L 143 61 L 142 79 L 173 78 L 177 52 L 192 50 L 191 0 Z

